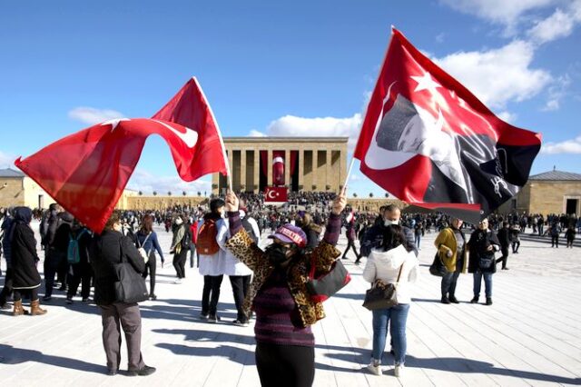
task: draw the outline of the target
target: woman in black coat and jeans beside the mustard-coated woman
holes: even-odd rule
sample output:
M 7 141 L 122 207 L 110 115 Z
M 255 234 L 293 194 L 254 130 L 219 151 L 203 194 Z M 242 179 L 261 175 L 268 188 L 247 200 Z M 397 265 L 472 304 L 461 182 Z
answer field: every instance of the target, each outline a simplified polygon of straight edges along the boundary
M 470 303 L 478 303 L 480 286 L 484 277 L 487 305 L 492 305 L 492 274 L 497 273 L 495 252 L 500 250 L 497 234 L 488 229 L 488 220 L 478 223 L 478 228 L 470 235 L 468 241 L 468 273 L 474 275 L 474 298 Z

